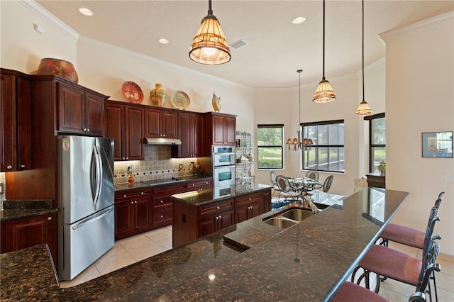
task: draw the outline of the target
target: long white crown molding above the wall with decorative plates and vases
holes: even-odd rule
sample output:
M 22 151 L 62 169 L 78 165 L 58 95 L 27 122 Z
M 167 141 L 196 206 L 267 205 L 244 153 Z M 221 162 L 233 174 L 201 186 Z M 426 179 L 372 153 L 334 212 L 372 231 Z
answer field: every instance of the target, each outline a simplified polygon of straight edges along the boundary
M 84 35 L 81 35 L 79 37 L 79 43 L 85 43 L 85 44 L 91 45 L 93 47 L 96 47 L 96 46 L 106 47 L 106 48 L 114 50 L 116 52 L 120 52 L 123 55 L 136 57 L 136 58 L 138 58 L 140 60 L 143 60 L 143 61 L 148 61 L 148 62 L 151 62 L 153 64 L 162 65 L 163 67 L 166 67 L 167 69 L 174 69 L 175 72 L 182 72 L 184 74 L 189 74 L 192 77 L 203 79 L 204 81 L 207 81 L 207 82 L 221 84 L 221 85 L 224 85 L 224 86 L 230 86 L 230 87 L 232 87 L 234 89 L 240 89 L 240 90 L 245 90 L 245 91 L 253 91 L 254 90 L 253 88 L 251 88 L 249 86 L 241 85 L 241 84 L 238 84 L 236 82 L 227 81 L 226 79 L 221 79 L 219 77 L 214 77 L 214 76 L 211 76 L 209 74 L 204 74 L 203 72 L 197 72 L 197 71 L 195 71 L 193 69 L 189 69 L 187 67 L 182 67 L 180 65 L 176 65 L 176 64 L 167 62 L 165 60 L 160 60 L 160 59 L 157 59 L 155 57 L 150 57 L 148 55 L 143 55 L 143 54 L 141 54 L 139 52 L 135 52 L 133 50 L 127 50 L 126 48 L 123 48 L 123 47 L 118 47 L 116 45 L 111 45 L 109 43 L 104 43 L 104 42 L 101 42 L 99 40 L 95 40 L 95 39 L 92 39 L 92 38 L 85 37 Z

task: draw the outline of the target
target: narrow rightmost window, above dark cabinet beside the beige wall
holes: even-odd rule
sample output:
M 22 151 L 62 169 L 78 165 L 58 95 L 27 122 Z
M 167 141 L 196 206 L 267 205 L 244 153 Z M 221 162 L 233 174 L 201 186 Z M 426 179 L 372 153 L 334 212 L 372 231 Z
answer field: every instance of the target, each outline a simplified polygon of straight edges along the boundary
M 386 160 L 386 119 L 384 113 L 373 116 L 365 116 L 365 121 L 369 123 L 369 169 L 370 172 L 379 172 L 380 162 Z

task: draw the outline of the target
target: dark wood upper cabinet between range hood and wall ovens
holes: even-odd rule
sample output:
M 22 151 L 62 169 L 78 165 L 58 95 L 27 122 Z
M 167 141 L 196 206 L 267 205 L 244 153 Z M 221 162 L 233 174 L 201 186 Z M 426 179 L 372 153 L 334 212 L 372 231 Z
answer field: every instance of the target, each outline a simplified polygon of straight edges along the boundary
M 204 116 L 201 113 L 178 113 L 181 145 L 172 145 L 172 157 L 204 156 Z

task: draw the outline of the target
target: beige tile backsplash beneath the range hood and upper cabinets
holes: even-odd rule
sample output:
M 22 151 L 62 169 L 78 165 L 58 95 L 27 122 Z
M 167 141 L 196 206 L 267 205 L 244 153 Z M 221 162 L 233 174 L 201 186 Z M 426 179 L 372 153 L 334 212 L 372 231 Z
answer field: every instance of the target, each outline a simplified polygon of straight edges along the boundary
M 170 152 L 170 145 L 145 145 L 145 160 L 114 162 L 114 184 L 126 184 L 128 182 L 126 175 L 128 166 L 134 166 L 135 181 L 192 175 L 189 172 L 190 164 L 197 162 L 197 159 L 171 158 Z M 179 164 L 182 164 L 182 169 L 179 169 Z

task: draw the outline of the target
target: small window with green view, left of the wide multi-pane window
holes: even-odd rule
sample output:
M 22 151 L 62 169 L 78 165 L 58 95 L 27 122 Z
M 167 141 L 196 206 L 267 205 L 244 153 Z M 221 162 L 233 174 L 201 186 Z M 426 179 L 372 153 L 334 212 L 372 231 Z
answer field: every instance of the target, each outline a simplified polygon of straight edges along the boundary
M 258 169 L 284 167 L 284 125 L 257 125 Z

